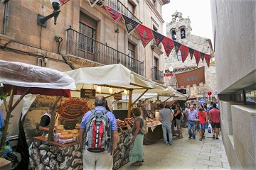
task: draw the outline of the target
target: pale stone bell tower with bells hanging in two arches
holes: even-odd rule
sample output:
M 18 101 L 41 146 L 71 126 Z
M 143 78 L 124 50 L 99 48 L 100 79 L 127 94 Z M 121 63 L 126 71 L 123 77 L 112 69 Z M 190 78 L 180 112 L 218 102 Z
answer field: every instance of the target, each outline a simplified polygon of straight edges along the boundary
M 178 11 L 171 17 L 171 22 L 166 24 L 167 37 L 185 44 L 191 41 L 192 28 L 190 19 L 182 18 L 182 13 Z

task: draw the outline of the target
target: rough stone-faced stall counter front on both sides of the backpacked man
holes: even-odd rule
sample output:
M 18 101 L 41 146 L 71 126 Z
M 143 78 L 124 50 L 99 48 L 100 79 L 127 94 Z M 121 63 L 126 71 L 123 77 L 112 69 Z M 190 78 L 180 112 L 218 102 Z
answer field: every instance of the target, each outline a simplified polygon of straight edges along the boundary
M 129 162 L 129 152 L 132 147 L 132 130 L 120 132 L 117 149 L 113 156 L 113 169 L 119 169 Z M 74 145 L 61 147 L 47 141 L 34 139 L 28 169 L 82 169 L 82 152 L 79 149 L 80 146 L 77 142 Z

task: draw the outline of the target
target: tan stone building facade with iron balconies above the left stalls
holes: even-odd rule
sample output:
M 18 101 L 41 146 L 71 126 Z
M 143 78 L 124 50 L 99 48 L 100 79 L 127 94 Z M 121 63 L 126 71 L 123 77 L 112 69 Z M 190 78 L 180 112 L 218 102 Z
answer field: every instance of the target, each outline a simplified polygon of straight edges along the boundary
M 170 0 L 100 2 L 161 33 L 164 23 L 161 8 Z M 0 9 L 0 60 L 61 72 L 121 63 L 164 84 L 163 52 L 153 42 L 143 47 L 136 31 L 128 35 L 124 23 L 115 24 L 97 4 L 92 7 L 87 0 L 68 1 L 60 7 L 57 24 L 50 18 L 46 27 L 38 25 L 38 15 L 53 13 L 50 1 L 4 1 Z M 155 74 L 161 74 L 162 79 Z

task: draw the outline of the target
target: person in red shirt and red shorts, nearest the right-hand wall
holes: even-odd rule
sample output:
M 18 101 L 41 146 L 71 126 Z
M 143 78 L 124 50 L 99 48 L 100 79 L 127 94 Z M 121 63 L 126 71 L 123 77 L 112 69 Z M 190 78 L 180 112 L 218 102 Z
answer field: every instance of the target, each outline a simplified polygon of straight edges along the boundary
M 213 109 L 209 111 L 210 115 L 210 124 L 213 128 L 213 139 L 215 138 L 218 140 L 218 135 L 220 133 L 220 111 L 217 109 L 216 103 L 213 103 Z M 216 130 L 216 137 L 215 137 L 215 130 Z

